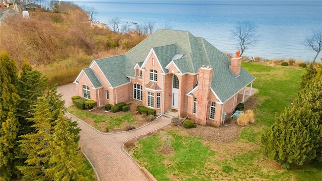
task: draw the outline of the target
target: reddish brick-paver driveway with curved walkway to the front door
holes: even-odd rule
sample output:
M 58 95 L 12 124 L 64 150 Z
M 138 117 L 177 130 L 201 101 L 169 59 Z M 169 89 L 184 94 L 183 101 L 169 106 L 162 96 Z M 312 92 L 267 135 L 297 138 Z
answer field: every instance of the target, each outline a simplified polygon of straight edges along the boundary
M 69 83 L 59 86 L 58 93 L 62 93 L 65 106 L 72 105 L 71 97 L 77 95 L 75 84 Z M 148 180 L 139 166 L 123 150 L 123 143 L 142 134 L 157 130 L 171 123 L 171 119 L 161 117 L 150 124 L 131 131 L 106 134 L 97 131 L 82 120 L 70 114 L 72 120 L 78 122 L 82 129 L 79 145 L 93 164 L 100 180 Z

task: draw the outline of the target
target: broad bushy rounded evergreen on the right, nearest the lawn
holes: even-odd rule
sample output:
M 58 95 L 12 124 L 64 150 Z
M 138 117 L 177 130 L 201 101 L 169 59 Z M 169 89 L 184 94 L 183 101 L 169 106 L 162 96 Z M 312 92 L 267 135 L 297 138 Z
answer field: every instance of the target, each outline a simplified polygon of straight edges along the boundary
M 284 168 L 314 159 L 321 141 L 317 120 L 318 115 L 307 104 L 285 109 L 262 135 L 264 154 Z

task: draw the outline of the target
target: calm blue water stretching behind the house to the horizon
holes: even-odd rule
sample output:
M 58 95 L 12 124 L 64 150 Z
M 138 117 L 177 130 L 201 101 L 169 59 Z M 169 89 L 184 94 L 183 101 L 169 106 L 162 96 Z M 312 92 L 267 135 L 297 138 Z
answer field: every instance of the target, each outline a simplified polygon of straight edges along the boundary
M 258 42 L 243 55 L 263 58 L 294 58 L 310 61 L 315 51 L 304 46 L 312 31 L 322 28 L 322 1 L 74 1 L 97 10 L 96 21 L 154 22 L 155 30 L 168 24 L 187 30 L 222 52 L 234 53 L 231 30 L 237 22 L 257 26 Z M 131 25 L 135 28 L 135 25 Z M 317 60 L 322 57 L 322 52 Z

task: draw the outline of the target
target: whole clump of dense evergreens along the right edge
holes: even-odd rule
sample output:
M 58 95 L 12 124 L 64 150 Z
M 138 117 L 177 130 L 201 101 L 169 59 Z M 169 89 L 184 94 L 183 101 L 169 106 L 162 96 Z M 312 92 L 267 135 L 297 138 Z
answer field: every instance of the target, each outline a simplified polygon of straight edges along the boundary
M 293 106 L 275 119 L 261 139 L 270 160 L 284 168 L 322 161 L 322 65 L 306 69 Z

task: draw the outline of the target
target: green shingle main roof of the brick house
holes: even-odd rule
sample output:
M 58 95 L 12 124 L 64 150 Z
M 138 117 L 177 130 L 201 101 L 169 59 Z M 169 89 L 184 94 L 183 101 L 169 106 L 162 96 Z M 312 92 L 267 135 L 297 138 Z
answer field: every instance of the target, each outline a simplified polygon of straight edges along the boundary
M 136 63 L 140 66 L 153 48 L 165 73 L 166 65 L 176 54 L 182 58 L 173 60 L 182 73 L 198 73 L 201 65 L 214 69 L 211 87 L 218 98 L 225 102 L 255 78 L 243 68 L 235 77 L 229 70 L 230 59 L 201 37 L 188 31 L 158 30 L 123 55 L 94 60 L 112 87 L 130 82 Z

